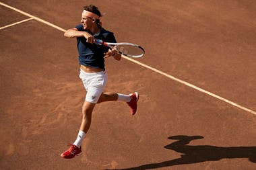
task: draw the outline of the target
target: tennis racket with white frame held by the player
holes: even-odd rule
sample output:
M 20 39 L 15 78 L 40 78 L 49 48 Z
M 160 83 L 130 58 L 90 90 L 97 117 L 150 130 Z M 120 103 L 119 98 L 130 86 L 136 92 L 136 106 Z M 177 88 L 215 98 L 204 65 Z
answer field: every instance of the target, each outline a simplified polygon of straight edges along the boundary
M 112 43 L 95 38 L 95 43 L 108 46 L 109 48 L 116 50 L 119 54 L 133 58 L 139 58 L 145 54 L 145 50 L 141 46 L 129 42 Z

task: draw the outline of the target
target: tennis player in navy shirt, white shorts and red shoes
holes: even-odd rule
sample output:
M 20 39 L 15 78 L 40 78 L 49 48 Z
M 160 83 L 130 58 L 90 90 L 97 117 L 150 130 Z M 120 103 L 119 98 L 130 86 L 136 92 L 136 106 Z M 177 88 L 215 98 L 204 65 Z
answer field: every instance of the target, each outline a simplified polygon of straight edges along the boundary
M 78 59 L 79 65 L 81 66 L 79 78 L 84 83 L 87 91 L 82 106 L 82 123 L 77 139 L 73 144 L 70 144 L 71 146 L 67 151 L 61 153 L 61 157 L 65 159 L 71 159 L 75 155 L 82 153 L 82 140 L 86 137 L 86 133 L 90 128 L 92 111 L 96 103 L 117 100 L 125 101 L 130 107 L 131 115 L 134 115 L 137 110 L 137 101 L 139 99 L 137 92 L 129 95 L 103 92 L 108 79 L 104 67 L 104 58 L 113 56 L 116 60 L 121 60 L 121 55 L 115 52 L 115 50 L 110 50 L 107 46 L 94 44 L 94 38 L 105 42 L 116 42 L 113 32 L 102 28 L 100 22 L 101 16 L 98 7 L 88 5 L 82 11 L 82 24 L 67 30 L 64 34 L 67 38 L 77 39 Z

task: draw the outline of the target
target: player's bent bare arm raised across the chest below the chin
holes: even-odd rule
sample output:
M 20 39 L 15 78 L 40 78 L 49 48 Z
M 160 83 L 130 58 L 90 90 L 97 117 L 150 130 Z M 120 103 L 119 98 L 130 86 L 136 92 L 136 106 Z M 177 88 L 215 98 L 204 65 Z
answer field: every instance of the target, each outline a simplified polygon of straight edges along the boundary
M 88 32 L 79 31 L 77 28 L 71 28 L 65 31 L 64 36 L 67 38 L 84 37 L 87 40 L 86 42 L 94 43 L 94 36 Z

